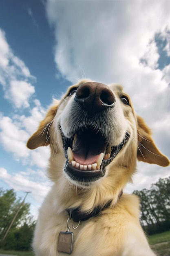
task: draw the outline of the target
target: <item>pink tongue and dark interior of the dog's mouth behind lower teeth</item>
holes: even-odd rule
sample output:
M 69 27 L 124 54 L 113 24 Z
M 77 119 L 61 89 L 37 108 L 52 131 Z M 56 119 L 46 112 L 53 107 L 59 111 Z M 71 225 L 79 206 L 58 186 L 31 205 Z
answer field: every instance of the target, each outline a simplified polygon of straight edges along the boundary
M 72 149 L 73 157 L 79 164 L 93 164 L 97 162 L 101 152 L 105 154 L 106 146 L 107 143 L 101 136 L 85 131 L 81 135 L 77 135 Z

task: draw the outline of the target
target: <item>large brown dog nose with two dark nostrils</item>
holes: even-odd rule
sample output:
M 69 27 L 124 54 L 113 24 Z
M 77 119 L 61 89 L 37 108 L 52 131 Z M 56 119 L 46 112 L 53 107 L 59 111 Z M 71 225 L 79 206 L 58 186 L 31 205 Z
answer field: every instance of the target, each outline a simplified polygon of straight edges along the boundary
M 87 82 L 79 86 L 75 94 L 82 108 L 91 114 L 115 106 L 113 91 L 103 83 Z

